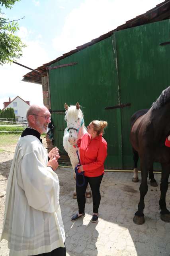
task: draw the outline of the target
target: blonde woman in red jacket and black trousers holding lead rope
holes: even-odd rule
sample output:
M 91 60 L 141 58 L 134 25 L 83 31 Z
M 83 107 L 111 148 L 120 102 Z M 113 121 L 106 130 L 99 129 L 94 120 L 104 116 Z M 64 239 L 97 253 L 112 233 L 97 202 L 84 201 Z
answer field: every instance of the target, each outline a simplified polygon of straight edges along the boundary
M 78 214 L 72 216 L 72 221 L 85 216 L 85 192 L 88 183 L 93 197 L 92 222 L 98 220 L 98 208 L 101 199 L 100 184 L 104 175 L 104 161 L 107 156 L 107 142 L 102 137 L 106 126 L 106 121 L 92 121 L 87 127 L 88 133 L 84 134 L 77 142 L 77 146 L 80 147 L 80 163 L 82 164 L 78 172 L 84 172 L 85 184 L 81 187 L 76 184 Z M 81 178 L 82 176 L 78 175 L 78 179 Z

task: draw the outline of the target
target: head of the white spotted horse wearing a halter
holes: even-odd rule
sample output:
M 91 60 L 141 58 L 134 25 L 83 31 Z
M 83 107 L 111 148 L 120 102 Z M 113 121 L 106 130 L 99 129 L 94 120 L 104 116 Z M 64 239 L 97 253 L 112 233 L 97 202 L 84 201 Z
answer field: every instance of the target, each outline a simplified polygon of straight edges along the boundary
M 67 122 L 69 132 L 68 141 L 71 145 L 75 145 L 78 139 L 78 132 L 82 125 L 84 125 L 83 113 L 80 110 L 80 104 L 78 102 L 76 106 L 70 107 L 65 103 L 64 108 L 66 110 L 64 120 Z

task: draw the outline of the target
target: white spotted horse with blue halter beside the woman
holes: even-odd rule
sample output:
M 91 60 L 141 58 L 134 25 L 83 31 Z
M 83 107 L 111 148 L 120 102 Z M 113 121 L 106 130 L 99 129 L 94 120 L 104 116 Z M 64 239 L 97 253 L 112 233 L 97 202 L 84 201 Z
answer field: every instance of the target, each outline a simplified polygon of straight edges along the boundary
M 68 156 L 70 158 L 70 162 L 73 168 L 76 167 L 78 164 L 78 156 L 76 154 L 77 148 L 74 148 L 73 145 L 76 145 L 77 140 L 81 138 L 82 135 L 84 135 L 87 130 L 84 126 L 84 118 L 83 113 L 80 110 L 80 104 L 77 102 L 76 106 L 70 106 L 65 103 L 64 108 L 66 110 L 65 112 L 65 118 L 64 120 L 67 122 L 67 128 L 64 130 L 64 137 L 63 137 L 63 146 L 66 152 L 68 153 Z M 78 148 L 78 154 L 79 154 L 79 148 Z M 79 154 L 80 156 L 80 154 Z M 76 175 L 74 172 L 74 179 Z M 86 189 L 86 197 L 92 197 L 92 193 L 89 189 L 89 184 Z M 76 186 L 74 186 L 74 193 L 73 198 L 76 199 Z

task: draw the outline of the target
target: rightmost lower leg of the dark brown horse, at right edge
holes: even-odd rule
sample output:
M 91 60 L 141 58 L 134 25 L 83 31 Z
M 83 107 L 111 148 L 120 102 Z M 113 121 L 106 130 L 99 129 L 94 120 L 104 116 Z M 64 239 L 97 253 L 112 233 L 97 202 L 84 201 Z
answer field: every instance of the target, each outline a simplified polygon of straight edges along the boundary
M 170 164 L 162 164 L 162 177 L 160 183 L 160 218 L 164 222 L 170 222 L 170 211 L 166 208 L 166 192 L 168 190 L 168 178 L 170 175 Z

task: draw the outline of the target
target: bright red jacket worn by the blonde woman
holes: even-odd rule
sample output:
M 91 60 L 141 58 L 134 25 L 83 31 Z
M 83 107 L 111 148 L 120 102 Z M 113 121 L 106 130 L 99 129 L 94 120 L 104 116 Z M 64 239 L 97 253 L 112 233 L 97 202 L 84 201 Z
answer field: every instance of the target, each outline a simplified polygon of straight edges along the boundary
M 97 177 L 104 173 L 104 161 L 107 156 L 107 142 L 96 136 L 93 140 L 89 133 L 85 133 L 78 141 L 80 147 L 80 163 L 83 166 L 84 176 Z

